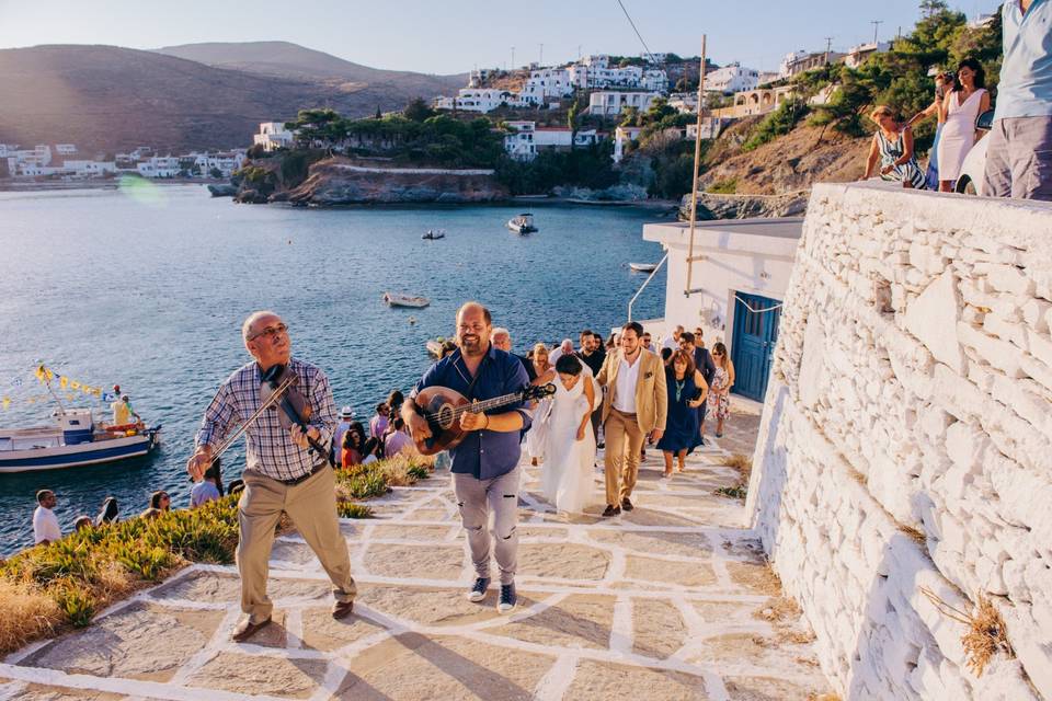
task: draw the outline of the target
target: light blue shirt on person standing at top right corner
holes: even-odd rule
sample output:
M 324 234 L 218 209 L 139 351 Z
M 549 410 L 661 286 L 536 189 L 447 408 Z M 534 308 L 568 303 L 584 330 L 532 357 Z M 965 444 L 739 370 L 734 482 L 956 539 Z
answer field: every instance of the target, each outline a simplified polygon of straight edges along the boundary
M 995 119 L 1052 115 L 1052 0 L 1019 0 L 1002 8 L 1005 58 L 1000 64 Z

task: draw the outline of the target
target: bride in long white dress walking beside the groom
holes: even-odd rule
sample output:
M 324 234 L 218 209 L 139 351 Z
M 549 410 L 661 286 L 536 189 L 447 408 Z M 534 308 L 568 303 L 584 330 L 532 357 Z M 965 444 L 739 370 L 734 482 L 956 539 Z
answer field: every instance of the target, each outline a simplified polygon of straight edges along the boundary
M 575 514 L 591 503 L 594 489 L 595 435 L 591 418 L 595 386 L 576 356 L 560 357 L 556 372 L 559 379 L 551 398 L 540 486 L 558 510 Z

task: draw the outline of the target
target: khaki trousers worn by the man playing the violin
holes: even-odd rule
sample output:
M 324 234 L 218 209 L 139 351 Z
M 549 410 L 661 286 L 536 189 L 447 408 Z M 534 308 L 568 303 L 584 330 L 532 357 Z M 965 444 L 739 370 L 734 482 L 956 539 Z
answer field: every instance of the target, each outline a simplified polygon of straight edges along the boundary
M 299 484 L 289 486 L 245 470 L 244 492 L 238 502 L 238 572 L 241 574 L 241 610 L 253 623 L 266 620 L 274 605 L 266 596 L 268 561 L 274 544 L 274 528 L 282 512 L 296 525 L 310 549 L 318 555 L 332 581 L 338 601 L 353 601 L 357 589 L 351 576 L 347 543 L 336 520 L 336 478 L 332 470 L 319 470 Z

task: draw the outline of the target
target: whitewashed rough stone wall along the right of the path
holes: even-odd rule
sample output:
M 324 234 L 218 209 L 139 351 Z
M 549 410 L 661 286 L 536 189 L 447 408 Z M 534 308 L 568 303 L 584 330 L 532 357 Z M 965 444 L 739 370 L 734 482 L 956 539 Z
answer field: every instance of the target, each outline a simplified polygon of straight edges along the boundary
M 748 508 L 846 698 L 1052 699 L 1050 324 L 1052 206 L 814 187 Z

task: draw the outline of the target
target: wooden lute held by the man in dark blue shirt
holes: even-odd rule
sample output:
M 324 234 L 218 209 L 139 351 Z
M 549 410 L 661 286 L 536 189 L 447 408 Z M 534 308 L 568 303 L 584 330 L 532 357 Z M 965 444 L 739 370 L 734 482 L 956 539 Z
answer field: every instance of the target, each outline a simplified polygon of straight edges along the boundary
M 527 386 L 517 392 L 502 394 L 493 399 L 470 402 L 455 390 L 446 387 L 428 387 L 416 395 L 416 411 L 431 427 L 430 438 L 413 436 L 416 449 L 425 456 L 457 447 L 468 432 L 460 428 L 460 416 L 465 412 L 479 414 L 491 409 L 500 409 L 518 402 L 531 402 L 551 397 L 556 386 L 549 382 L 537 387 Z

